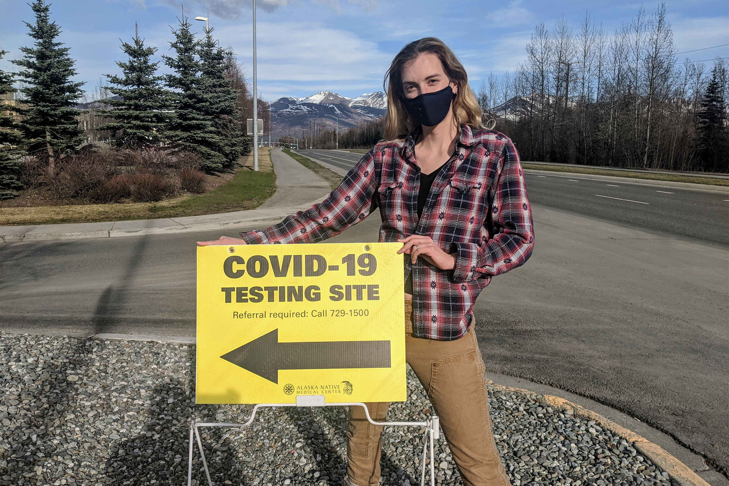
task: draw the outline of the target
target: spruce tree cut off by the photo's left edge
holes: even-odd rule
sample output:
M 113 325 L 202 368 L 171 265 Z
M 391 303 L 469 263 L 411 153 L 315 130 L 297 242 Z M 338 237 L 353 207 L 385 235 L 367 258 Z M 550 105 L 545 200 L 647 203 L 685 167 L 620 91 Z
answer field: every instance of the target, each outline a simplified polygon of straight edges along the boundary
M 6 54 L 0 50 L 0 59 Z M 15 93 L 12 79 L 12 73 L 0 71 L 0 95 Z M 15 107 L 10 100 L 0 101 L 0 200 L 15 197 L 23 189 L 19 179 L 21 144 L 23 136 L 15 122 Z

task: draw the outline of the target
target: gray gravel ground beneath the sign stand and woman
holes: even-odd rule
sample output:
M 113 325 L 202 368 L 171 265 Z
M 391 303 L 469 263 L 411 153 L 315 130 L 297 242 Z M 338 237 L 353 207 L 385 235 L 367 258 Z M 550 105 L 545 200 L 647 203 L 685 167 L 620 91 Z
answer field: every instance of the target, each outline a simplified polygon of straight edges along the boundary
M 0 357 L 0 485 L 182 485 L 190 420 L 243 421 L 251 408 L 194 404 L 194 347 L 0 332 Z M 551 409 L 539 395 L 490 392 L 512 485 L 671 485 L 593 421 Z M 248 430 L 201 429 L 215 484 L 339 485 L 345 412 L 263 409 Z M 408 401 L 394 404 L 388 418 L 430 414 L 410 373 Z M 402 434 L 386 428 L 383 436 L 383 485 L 419 479 L 422 430 Z M 443 439 L 436 454 L 438 482 L 463 484 Z M 201 464 L 193 464 L 204 483 Z

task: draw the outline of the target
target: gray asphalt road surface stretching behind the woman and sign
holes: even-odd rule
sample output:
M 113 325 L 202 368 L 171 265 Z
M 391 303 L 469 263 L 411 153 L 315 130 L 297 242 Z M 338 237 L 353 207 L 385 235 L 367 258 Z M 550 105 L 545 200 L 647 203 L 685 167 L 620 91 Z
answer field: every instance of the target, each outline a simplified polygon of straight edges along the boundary
M 604 206 L 585 209 L 597 200 L 590 192 L 621 197 L 583 190 L 582 184 L 594 181 L 528 176 L 527 184 L 537 232 L 534 255 L 494 278 L 477 302 L 477 335 L 488 369 L 623 410 L 727 471 L 729 248 L 710 236 L 712 226 L 725 224 L 726 208 L 714 206 L 712 221 L 700 206 L 701 198 L 713 195 L 625 188 L 643 192 L 623 199 L 648 203 L 655 200 L 639 196 L 695 197 L 687 207 L 700 213 L 693 217 L 699 230 L 685 234 L 667 223 L 675 218 L 649 213 L 645 205 L 640 213 L 632 206 L 637 203 L 599 198 L 606 199 Z M 559 207 L 559 198 L 574 203 Z M 666 211 L 681 206 L 668 204 Z M 616 222 L 616 214 L 628 215 L 620 216 L 627 221 Z M 641 214 L 654 226 L 637 219 Z M 679 214 L 691 218 L 688 210 Z M 373 240 L 377 227 L 375 214 L 335 240 Z M 192 335 L 194 242 L 217 236 L 0 246 L 0 326 Z

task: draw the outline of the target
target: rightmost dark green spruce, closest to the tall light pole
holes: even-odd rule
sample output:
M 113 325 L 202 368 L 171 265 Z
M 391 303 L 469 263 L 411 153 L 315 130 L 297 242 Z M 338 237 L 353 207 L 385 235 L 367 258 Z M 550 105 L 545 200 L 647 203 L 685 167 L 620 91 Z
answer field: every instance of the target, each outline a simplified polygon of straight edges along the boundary
M 200 42 L 200 87 L 205 102 L 200 111 L 213 119 L 213 127 L 221 135 L 216 152 L 225 157 L 225 167 L 233 165 L 241 154 L 250 151 L 250 141 L 241 130 L 241 111 L 238 109 L 238 90 L 230 87 L 226 52 L 212 36 L 213 29 L 205 28 L 205 38 Z

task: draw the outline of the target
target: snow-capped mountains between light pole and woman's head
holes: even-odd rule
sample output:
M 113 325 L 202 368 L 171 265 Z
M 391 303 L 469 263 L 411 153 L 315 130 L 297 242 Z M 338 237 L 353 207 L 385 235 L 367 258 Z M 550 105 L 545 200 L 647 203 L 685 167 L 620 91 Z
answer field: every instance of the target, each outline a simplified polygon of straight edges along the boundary
M 321 91 L 304 98 L 278 98 L 269 105 L 273 121 L 273 136 L 303 133 L 311 128 L 312 122 L 333 129 L 339 119 L 340 132 L 354 127 L 358 122 L 366 122 L 383 117 L 387 107 L 385 93 L 364 93 L 356 98 Z

